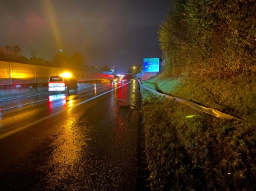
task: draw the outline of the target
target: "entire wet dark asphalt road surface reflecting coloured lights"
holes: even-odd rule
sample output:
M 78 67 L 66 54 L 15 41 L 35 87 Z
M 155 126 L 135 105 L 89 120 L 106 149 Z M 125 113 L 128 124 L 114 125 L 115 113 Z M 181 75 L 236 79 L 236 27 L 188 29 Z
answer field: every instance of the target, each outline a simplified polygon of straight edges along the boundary
M 0 100 L 0 190 L 137 190 L 138 91 Z

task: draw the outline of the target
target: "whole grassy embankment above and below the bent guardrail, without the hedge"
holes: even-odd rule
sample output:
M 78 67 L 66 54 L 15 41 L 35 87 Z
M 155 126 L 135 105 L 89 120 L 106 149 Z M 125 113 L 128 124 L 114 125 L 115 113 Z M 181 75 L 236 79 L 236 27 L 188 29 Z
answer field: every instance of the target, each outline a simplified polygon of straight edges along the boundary
M 256 187 L 256 81 L 172 79 L 143 82 L 165 94 L 238 117 L 223 120 L 143 90 L 152 190 L 253 190 Z M 186 117 L 195 115 L 193 117 Z

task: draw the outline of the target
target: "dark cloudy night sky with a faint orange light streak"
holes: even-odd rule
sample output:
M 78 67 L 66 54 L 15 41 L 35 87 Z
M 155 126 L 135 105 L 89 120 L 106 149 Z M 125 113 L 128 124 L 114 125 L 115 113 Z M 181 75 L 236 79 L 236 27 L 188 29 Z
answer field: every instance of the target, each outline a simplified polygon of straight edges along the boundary
M 144 57 L 160 57 L 157 37 L 170 0 L 0 0 L 0 46 L 53 59 L 65 49 L 87 65 L 127 72 Z

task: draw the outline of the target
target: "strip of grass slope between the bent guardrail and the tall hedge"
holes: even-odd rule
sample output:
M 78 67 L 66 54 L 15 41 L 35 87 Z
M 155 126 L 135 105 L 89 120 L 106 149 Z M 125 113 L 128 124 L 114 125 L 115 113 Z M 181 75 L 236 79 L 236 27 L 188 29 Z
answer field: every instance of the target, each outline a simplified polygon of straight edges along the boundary
M 199 103 L 201 106 L 216 109 L 234 117 L 256 124 L 256 80 L 254 75 L 238 75 L 228 79 L 207 79 L 187 77 L 172 79 L 163 73 L 144 85 L 163 92 Z

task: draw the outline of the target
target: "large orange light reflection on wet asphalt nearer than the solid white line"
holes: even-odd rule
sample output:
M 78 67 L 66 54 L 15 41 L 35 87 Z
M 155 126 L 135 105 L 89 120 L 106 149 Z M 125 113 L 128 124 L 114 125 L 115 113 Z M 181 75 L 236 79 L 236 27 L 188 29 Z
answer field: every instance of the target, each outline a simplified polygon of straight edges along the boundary
M 52 143 L 54 151 L 51 154 L 49 164 L 53 171 L 49 173 L 46 179 L 56 178 L 65 180 L 66 177 L 78 178 L 78 164 L 81 161 L 83 149 L 87 146 L 87 138 L 84 135 L 87 129 L 83 129 L 78 125 L 78 118 L 73 117 L 72 112 L 66 112 L 66 120 L 63 120 L 63 131 L 57 136 Z

